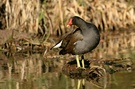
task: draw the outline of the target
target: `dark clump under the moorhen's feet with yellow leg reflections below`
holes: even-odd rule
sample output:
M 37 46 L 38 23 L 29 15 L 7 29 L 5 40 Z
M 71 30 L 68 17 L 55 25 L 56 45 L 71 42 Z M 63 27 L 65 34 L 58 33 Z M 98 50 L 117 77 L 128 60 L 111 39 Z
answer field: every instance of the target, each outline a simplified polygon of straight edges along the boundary
M 71 79 L 77 79 L 77 89 L 85 89 L 85 83 L 106 89 L 107 75 L 106 70 L 99 66 L 89 67 L 90 62 L 85 60 L 86 69 L 76 68 L 76 61 L 72 60 L 63 66 L 63 73 Z

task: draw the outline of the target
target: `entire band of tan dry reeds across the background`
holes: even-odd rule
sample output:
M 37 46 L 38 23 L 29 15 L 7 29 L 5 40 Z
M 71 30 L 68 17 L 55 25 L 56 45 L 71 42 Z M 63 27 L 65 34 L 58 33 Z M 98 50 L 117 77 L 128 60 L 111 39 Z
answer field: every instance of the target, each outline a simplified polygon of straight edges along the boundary
M 134 2 L 134 1 L 132 1 Z M 6 0 L 6 26 L 8 29 L 38 33 L 39 14 L 45 15 L 46 34 L 66 33 L 70 17 L 77 15 L 88 22 L 95 23 L 100 30 L 118 29 L 135 24 L 135 8 L 125 0 Z M 46 8 L 42 8 L 45 6 Z M 43 11 L 45 10 L 45 11 Z M 115 27 L 115 28 L 114 28 Z M 41 29 L 41 27 L 40 27 Z

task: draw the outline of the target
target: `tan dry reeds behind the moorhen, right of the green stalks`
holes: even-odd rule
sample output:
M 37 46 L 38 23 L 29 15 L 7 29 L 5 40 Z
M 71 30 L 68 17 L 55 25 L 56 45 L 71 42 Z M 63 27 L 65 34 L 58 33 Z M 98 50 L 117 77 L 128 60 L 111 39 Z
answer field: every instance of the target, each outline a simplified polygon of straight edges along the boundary
M 47 11 L 54 25 L 53 34 L 56 34 L 57 30 L 60 29 L 59 26 L 63 31 L 62 33 L 65 33 L 66 28 L 63 27 L 66 26 L 69 18 L 74 15 L 95 23 L 98 27 L 100 26 L 101 30 L 114 29 L 113 27 L 115 29 L 126 28 L 128 25 L 135 24 L 134 5 L 125 0 L 58 0 L 58 4 L 56 2 L 47 2 Z

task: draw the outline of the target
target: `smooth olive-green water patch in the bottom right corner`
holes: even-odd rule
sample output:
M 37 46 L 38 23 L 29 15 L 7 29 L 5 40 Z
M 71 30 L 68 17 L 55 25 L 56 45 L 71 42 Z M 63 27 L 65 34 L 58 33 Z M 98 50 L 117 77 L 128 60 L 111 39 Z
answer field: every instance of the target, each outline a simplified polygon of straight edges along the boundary
M 122 71 L 111 75 L 107 89 L 134 89 L 135 71 Z

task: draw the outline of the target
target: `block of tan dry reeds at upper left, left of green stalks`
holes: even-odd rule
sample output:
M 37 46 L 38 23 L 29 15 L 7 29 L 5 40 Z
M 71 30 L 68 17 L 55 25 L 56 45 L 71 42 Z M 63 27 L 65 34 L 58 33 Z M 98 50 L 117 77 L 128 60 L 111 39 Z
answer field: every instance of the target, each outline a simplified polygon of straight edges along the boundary
M 39 0 L 6 0 L 7 29 L 38 33 Z

